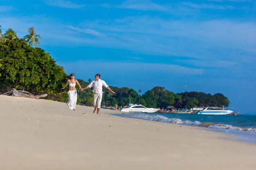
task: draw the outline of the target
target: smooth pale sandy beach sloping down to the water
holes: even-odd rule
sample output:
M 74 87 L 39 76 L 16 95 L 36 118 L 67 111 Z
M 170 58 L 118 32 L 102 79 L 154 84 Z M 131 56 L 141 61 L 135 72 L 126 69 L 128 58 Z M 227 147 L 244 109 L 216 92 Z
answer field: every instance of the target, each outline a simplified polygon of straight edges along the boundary
M 205 128 L 0 95 L 1 170 L 253 170 L 256 145 Z M 129 113 L 128 113 L 129 114 Z

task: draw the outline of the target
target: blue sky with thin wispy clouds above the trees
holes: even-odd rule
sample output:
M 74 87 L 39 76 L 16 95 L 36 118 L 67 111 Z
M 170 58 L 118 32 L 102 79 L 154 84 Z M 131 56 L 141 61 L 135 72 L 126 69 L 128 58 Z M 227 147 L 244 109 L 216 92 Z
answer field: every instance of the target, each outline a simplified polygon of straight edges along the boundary
M 76 79 L 101 74 L 141 94 L 222 93 L 254 114 L 254 0 L 0 0 L 2 33 L 34 27 L 40 47 Z

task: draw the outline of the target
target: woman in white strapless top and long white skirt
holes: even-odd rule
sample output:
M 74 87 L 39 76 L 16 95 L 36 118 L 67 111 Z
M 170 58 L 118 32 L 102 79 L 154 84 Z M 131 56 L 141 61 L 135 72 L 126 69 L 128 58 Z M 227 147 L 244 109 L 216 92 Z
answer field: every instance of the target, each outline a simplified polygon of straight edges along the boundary
M 77 79 L 75 79 L 74 73 L 70 74 L 70 76 L 67 75 L 67 78 L 68 78 L 67 83 L 61 89 L 66 88 L 67 85 L 69 86 L 69 91 L 67 92 L 67 94 L 68 94 L 67 106 L 71 110 L 73 109 L 74 111 L 76 111 L 76 102 L 77 102 L 76 83 L 78 84 L 79 89 L 81 89 L 81 85 L 79 84 Z

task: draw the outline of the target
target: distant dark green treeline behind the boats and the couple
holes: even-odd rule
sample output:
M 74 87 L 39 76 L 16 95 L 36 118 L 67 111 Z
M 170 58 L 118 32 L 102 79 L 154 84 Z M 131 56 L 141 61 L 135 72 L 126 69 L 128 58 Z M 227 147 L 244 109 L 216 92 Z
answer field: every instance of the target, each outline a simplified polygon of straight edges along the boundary
M 83 80 L 79 80 L 82 87 L 88 85 Z M 166 108 L 167 106 L 175 106 L 180 100 L 182 105 L 180 108 L 193 108 L 198 106 L 217 106 L 222 107 L 229 106 L 229 100 L 224 95 L 217 93 L 215 95 L 205 94 L 201 92 L 185 92 L 175 94 L 171 91 L 165 90 L 164 87 L 154 87 L 150 91 L 146 91 L 145 94 L 138 95 L 138 93 L 132 88 L 128 87 L 112 87 L 110 88 L 116 92 L 116 95 L 103 88 L 103 100 L 104 106 L 126 106 L 129 103 L 141 104 L 146 107 L 159 107 Z M 77 89 L 79 91 L 79 89 Z M 80 102 L 86 106 L 92 106 L 93 104 L 93 92 L 90 88 L 78 93 Z

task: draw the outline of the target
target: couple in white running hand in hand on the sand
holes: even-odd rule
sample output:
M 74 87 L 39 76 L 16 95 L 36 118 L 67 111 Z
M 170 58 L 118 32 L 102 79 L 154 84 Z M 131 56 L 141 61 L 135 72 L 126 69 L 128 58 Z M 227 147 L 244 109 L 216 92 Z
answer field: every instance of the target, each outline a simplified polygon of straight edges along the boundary
M 69 85 L 69 91 L 68 91 L 69 97 L 68 97 L 67 106 L 70 109 L 73 109 L 74 111 L 76 110 L 76 101 L 77 101 L 77 91 L 75 88 L 76 83 L 78 84 L 81 91 L 83 91 L 84 89 L 93 87 L 93 90 L 92 90 L 93 91 L 93 107 L 94 107 L 93 113 L 95 113 L 97 110 L 97 114 L 99 114 L 99 110 L 101 108 L 102 94 L 103 94 L 102 86 L 106 87 L 109 91 L 116 94 L 114 91 L 111 90 L 111 88 L 108 86 L 108 84 L 106 84 L 104 80 L 100 79 L 101 77 L 100 74 L 96 74 L 95 80 L 93 80 L 85 88 L 81 88 L 81 85 L 79 84 L 79 82 L 74 78 L 75 75 L 73 73 L 70 74 L 70 76 L 68 77 L 69 79 L 67 80 L 67 83 L 61 89 L 64 89 L 67 85 Z

